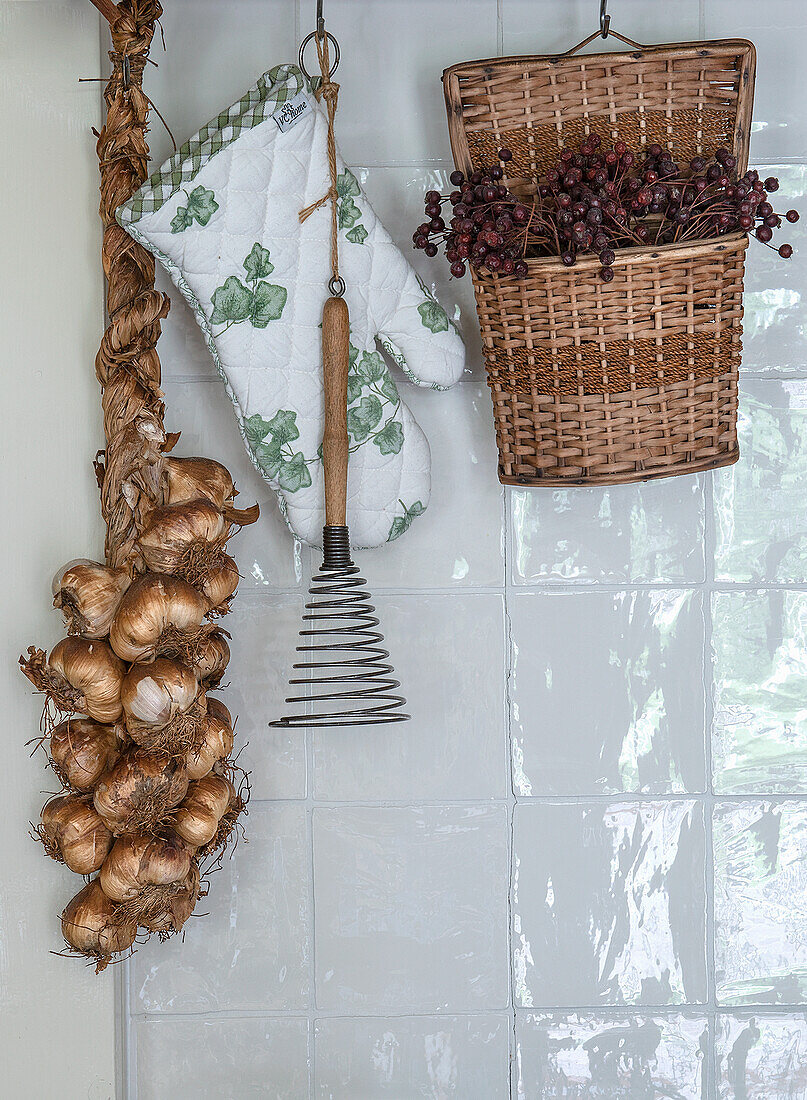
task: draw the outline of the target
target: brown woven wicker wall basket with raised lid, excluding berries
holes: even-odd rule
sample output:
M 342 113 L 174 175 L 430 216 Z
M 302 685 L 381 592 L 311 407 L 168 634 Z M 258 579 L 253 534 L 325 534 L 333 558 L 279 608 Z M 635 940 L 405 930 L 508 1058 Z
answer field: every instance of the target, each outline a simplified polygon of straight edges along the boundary
M 454 65 L 454 161 L 468 173 L 506 145 L 518 194 L 596 132 L 684 163 L 725 145 L 744 172 L 754 68 L 739 40 Z M 530 260 L 524 279 L 474 271 L 499 480 L 609 484 L 736 462 L 747 245 L 737 233 L 621 250 L 611 283 L 594 256 Z

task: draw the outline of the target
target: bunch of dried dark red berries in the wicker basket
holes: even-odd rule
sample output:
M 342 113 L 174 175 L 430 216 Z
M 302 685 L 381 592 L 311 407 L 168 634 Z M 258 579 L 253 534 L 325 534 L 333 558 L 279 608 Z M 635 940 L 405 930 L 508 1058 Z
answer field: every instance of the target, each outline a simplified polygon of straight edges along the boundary
M 560 256 L 572 266 L 577 256 L 594 253 L 608 283 L 619 249 L 751 231 L 772 248 L 783 218 L 798 221 L 795 210 L 778 215 L 769 201 L 778 179 L 762 180 L 753 169 L 738 177 L 737 158 L 726 148 L 696 156 L 684 168 L 661 145 L 638 152 L 617 141 L 605 150 L 597 134 L 589 134 L 577 152 L 564 148 L 555 167 L 521 195 L 504 183 L 512 152 L 499 150 L 499 160 L 467 179 L 452 172 L 456 189 L 449 196 L 427 191 L 428 220 L 412 234 L 414 248 L 435 256 L 442 242 L 457 278 L 466 264 L 523 278 L 528 258 Z M 785 260 L 793 255 L 789 244 L 776 251 Z

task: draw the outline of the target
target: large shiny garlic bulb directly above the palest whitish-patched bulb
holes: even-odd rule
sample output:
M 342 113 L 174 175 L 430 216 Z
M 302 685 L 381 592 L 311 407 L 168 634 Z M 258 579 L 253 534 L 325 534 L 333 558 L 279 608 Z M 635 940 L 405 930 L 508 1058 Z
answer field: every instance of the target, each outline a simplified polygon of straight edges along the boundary
M 192 644 L 207 612 L 197 590 L 178 576 L 145 573 L 121 600 L 109 632 L 112 649 L 124 661 L 152 661 L 161 646 L 181 650 Z

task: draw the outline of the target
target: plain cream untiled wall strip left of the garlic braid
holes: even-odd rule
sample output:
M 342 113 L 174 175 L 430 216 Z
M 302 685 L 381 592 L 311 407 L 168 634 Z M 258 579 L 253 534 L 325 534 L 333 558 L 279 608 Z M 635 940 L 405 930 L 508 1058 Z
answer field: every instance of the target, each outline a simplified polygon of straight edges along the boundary
M 57 958 L 58 914 L 81 886 L 27 836 L 55 778 L 25 743 L 40 700 L 16 667 L 59 637 L 49 576 L 103 552 L 91 460 L 102 446 L 95 138 L 99 22 L 89 3 L 0 2 L 0 1094 L 104 1100 L 114 1088 L 114 977 Z

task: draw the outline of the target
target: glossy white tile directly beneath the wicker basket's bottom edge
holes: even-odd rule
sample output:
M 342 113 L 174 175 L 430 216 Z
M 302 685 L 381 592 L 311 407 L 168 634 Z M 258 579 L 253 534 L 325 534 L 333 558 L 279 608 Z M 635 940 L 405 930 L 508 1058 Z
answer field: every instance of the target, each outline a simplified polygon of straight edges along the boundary
M 704 579 L 704 483 L 683 475 L 606 488 L 513 490 L 516 584 Z

